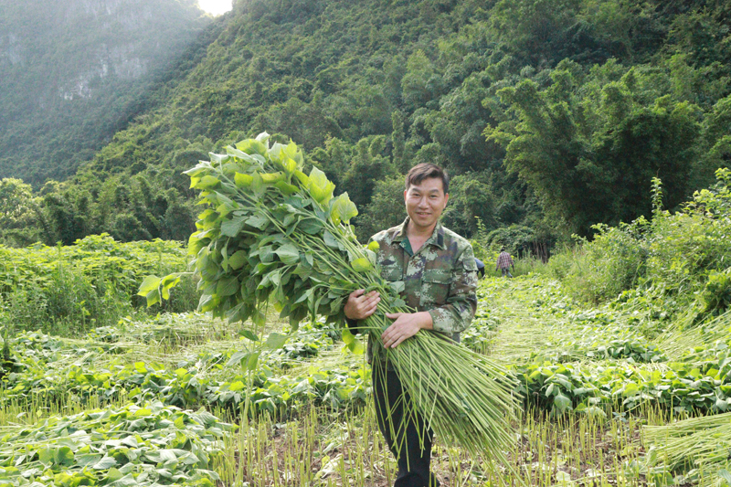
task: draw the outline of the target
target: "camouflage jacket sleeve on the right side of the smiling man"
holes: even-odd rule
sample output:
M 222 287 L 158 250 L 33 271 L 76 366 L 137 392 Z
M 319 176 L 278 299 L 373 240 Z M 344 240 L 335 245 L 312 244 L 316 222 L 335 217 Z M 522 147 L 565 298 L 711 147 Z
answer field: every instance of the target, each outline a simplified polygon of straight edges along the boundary
M 435 332 L 460 333 L 466 330 L 477 310 L 477 264 L 471 246 L 465 247 L 451 270 L 447 302 L 429 310 Z

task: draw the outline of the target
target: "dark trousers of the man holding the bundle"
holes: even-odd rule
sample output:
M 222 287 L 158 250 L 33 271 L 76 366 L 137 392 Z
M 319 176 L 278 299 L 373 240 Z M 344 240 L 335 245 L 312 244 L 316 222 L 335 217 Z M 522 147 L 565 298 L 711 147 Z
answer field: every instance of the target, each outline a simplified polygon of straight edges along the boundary
M 394 487 L 438 487 L 440 482 L 429 471 L 434 433 L 425 426 L 421 415 L 405 410 L 404 399 L 408 396 L 401 397 L 396 371 L 374 361 L 372 377 L 378 428 L 398 463 Z M 404 416 L 407 421 L 403 421 Z

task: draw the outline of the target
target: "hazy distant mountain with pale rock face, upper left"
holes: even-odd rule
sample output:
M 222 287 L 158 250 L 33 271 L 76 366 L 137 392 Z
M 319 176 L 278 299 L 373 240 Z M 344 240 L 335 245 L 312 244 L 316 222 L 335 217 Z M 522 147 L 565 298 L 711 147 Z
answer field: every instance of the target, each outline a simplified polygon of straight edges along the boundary
M 0 177 L 76 173 L 210 22 L 196 0 L 0 0 Z

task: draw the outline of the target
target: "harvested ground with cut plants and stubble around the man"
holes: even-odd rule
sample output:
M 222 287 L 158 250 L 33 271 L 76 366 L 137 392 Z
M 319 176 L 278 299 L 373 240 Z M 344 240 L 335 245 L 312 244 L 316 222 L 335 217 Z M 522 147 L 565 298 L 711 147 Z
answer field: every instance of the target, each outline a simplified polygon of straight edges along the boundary
M 671 323 L 652 341 L 638 333 L 662 320 L 652 312 L 580 308 L 539 275 L 489 278 L 480 299 L 463 341 L 520 379 L 524 412 L 508 454 L 525 483 L 720 478 L 716 448 L 686 464 L 644 427 L 726 411 L 731 317 L 698 329 L 688 348 Z M 126 317 L 73 338 L 14 333 L 4 342 L 0 483 L 391 484 L 364 356 L 333 325 L 288 333 L 275 316 L 260 337 L 195 312 Z M 286 344 L 267 346 L 282 335 Z M 255 369 L 241 365 L 262 348 Z M 715 441 L 726 461 L 728 441 Z M 517 484 L 504 467 L 448 444 L 435 450 L 447 485 Z

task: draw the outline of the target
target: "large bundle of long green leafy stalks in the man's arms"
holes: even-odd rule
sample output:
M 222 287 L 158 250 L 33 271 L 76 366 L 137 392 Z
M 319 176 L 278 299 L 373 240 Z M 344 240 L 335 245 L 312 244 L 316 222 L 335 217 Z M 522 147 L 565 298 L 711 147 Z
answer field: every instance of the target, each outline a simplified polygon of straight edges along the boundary
M 381 302 L 361 329 L 375 341 L 376 358 L 397 371 L 407 410 L 421 413 L 444 441 L 505 461 L 516 398 L 503 368 L 439 333 L 421 331 L 383 348 L 386 312 L 413 310 L 398 297 L 403 282 L 381 279 L 377 244 L 364 248 L 355 238 L 349 221 L 357 210 L 347 194 L 334 197 L 333 183 L 317 168 L 303 174 L 297 146 L 270 146 L 266 133 L 210 157 L 185 172 L 207 205 L 189 242 L 203 291 L 199 309 L 261 324 L 263 306 L 273 302 L 296 330 L 308 315 L 343 323 L 348 294 L 376 290 Z M 176 280 L 147 281 L 142 291 L 156 302 Z M 355 347 L 346 328 L 343 335 Z

